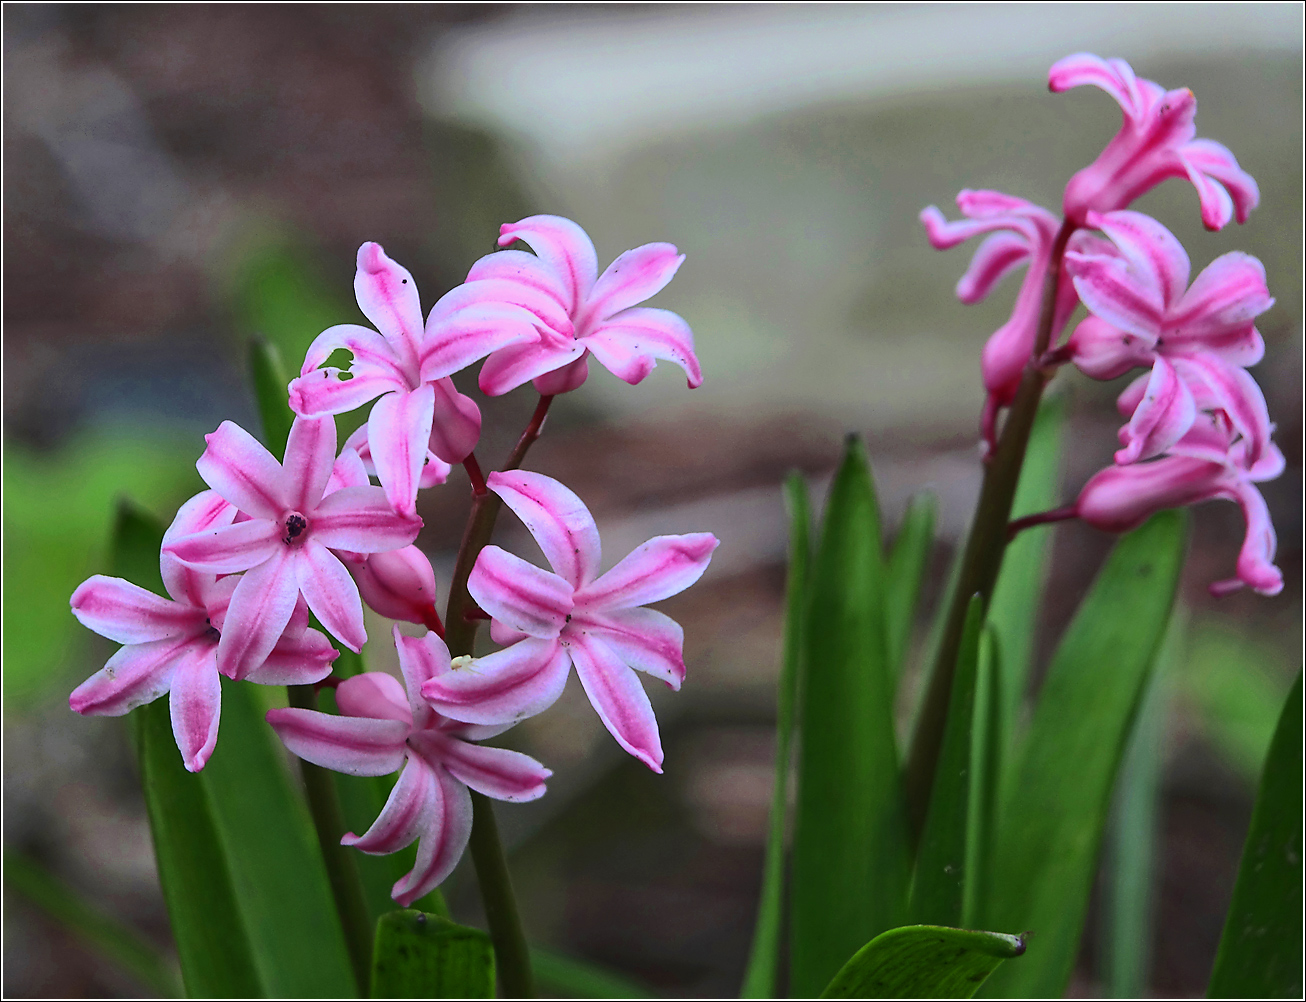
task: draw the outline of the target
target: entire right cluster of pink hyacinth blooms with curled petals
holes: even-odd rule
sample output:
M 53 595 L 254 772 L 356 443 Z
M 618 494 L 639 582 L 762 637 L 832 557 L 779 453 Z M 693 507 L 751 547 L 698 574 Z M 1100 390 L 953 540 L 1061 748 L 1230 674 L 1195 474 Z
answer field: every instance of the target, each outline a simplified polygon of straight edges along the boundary
M 1140 525 L 1153 512 L 1224 498 L 1242 508 L 1246 537 L 1235 575 L 1213 594 L 1250 587 L 1282 589 L 1273 564 L 1275 530 L 1256 483 L 1277 477 L 1284 457 L 1271 442 L 1266 400 L 1247 368 L 1264 342 L 1255 319 L 1273 299 L 1260 261 L 1233 252 L 1195 280 L 1187 252 L 1160 222 L 1128 205 L 1170 178 L 1198 192 L 1202 221 L 1218 230 L 1245 222 L 1259 201 L 1255 180 L 1234 155 L 1196 138 L 1192 93 L 1138 78 L 1119 59 L 1067 56 L 1049 72 L 1049 88 L 1092 85 L 1123 111 L 1119 133 L 1066 186 L 1063 218 L 1000 192 L 963 191 L 963 219 L 935 206 L 921 213 L 930 243 L 946 250 L 983 234 L 957 297 L 974 303 L 1008 273 L 1025 274 L 1011 319 L 985 345 L 985 455 L 998 444 L 998 419 L 1027 370 L 1074 364 L 1109 380 L 1141 368 L 1119 395 L 1121 449 L 1114 465 L 1083 487 L 1076 502 L 1012 525 L 1079 517 L 1107 532 Z M 1079 306 L 1088 311 L 1062 334 Z

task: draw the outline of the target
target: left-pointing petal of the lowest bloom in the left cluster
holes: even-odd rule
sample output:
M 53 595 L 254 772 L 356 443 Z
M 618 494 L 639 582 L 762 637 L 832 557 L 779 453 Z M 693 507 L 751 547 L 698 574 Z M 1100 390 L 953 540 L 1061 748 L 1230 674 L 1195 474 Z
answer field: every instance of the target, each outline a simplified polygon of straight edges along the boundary
M 404 764 L 409 726 L 400 720 L 337 717 L 316 709 L 269 709 L 277 737 L 306 762 L 350 776 L 385 776 Z

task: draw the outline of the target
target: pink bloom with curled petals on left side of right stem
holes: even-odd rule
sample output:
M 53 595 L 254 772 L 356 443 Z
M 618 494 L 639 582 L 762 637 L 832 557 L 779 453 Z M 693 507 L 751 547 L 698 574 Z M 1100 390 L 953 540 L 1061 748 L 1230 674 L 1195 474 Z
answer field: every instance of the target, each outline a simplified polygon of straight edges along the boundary
M 1060 221 L 1047 209 L 995 191 L 963 191 L 957 195 L 957 208 L 965 219 L 948 222 L 942 212 L 930 205 L 921 212 L 921 222 L 930 244 L 938 251 L 956 247 L 980 234 L 990 234 L 957 282 L 957 298 L 963 303 L 978 303 L 1010 272 L 1027 265 L 1011 319 L 989 337 L 981 357 L 987 391 L 981 426 L 983 440 L 991 449 L 996 443 L 998 410 L 1016 396 L 1021 374 L 1034 350 L 1043 283 Z M 1066 325 L 1075 303 L 1075 290 L 1063 273 L 1057 290 L 1053 340 Z

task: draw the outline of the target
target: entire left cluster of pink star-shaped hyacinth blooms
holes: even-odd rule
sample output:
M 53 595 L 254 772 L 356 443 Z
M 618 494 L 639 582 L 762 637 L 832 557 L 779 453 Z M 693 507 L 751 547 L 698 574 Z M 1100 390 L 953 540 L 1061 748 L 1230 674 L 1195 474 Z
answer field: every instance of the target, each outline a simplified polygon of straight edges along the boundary
M 118 716 L 168 694 L 191 772 L 215 751 L 221 675 L 334 686 L 338 713 L 295 705 L 269 711 L 268 721 L 317 766 L 357 776 L 402 769 L 372 827 L 342 843 L 367 853 L 418 843 L 414 869 L 393 888 L 404 905 L 462 856 L 469 789 L 511 802 L 545 793 L 550 772 L 541 763 L 477 742 L 546 711 L 572 665 L 618 743 L 661 772 L 657 721 L 636 671 L 679 688 L 684 636 L 644 606 L 693 584 L 717 545 L 710 533 L 663 536 L 599 574 L 598 529 L 571 490 L 511 468 L 483 476 L 474 455 L 479 408 L 451 380 L 482 359 L 486 395 L 528 381 L 541 395 L 509 466 L 538 436 L 552 397 L 585 381 L 590 355 L 631 384 L 657 359 L 679 364 L 691 387 L 703 381 L 688 324 L 639 306 L 680 267 L 675 247 L 645 244 L 598 274 L 589 236 L 569 219 L 504 225 L 500 247 L 517 240 L 530 251 L 481 259 L 424 320 L 413 276 L 380 244 L 364 243 L 354 291 L 372 327 L 332 327 L 308 347 L 287 387 L 295 417 L 279 461 L 230 421 L 206 436 L 196 468 L 210 490 L 182 507 L 159 555 L 170 598 L 102 575 L 72 596 L 85 626 L 124 645 L 77 687 L 72 708 Z M 351 354 L 347 368 L 329 364 L 338 349 Z M 367 422 L 338 447 L 334 415 L 367 404 Z M 414 545 L 418 491 L 444 483 L 454 464 L 471 481 L 473 520 L 482 520 L 485 538 L 492 491 L 554 568 L 498 546 L 465 547 L 462 597 L 470 592 L 481 609 L 449 623 L 462 638 L 456 656 L 436 609 L 435 574 Z M 424 627 L 421 636 L 393 630 L 402 683 L 376 671 L 330 678 L 332 639 L 354 652 L 367 643 L 364 604 Z M 473 657 L 481 618 L 500 649 Z

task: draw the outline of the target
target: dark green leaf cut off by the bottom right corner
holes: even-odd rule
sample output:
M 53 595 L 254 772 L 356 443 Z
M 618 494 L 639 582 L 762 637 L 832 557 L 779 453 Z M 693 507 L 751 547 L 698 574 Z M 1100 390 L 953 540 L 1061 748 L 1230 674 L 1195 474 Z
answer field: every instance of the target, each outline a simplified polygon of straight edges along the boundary
M 1238 883 L 1207 995 L 1302 994 L 1302 677 L 1288 692 L 1260 777 Z

